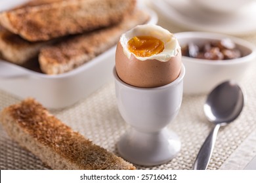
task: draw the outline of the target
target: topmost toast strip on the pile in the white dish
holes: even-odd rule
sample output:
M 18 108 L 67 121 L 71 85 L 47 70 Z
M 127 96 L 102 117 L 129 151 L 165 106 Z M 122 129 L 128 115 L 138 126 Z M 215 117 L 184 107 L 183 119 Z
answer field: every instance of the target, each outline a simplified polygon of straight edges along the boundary
M 28 41 L 47 41 L 117 24 L 125 14 L 133 12 L 136 5 L 136 0 L 42 2 L 0 13 L 1 25 Z

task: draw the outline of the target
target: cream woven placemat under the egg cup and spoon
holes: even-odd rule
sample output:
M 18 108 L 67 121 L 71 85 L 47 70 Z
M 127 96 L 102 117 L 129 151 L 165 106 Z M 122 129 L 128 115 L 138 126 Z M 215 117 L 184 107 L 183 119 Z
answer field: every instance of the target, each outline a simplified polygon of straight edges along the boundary
M 242 83 L 247 103 L 240 117 L 219 131 L 215 150 L 208 169 L 219 169 L 230 155 L 256 129 L 256 81 L 253 69 L 249 69 Z M 181 110 L 168 126 L 181 138 L 182 148 L 173 160 L 156 167 L 138 169 L 192 169 L 196 154 L 213 127 L 207 122 L 202 106 L 206 95 L 184 95 Z M 0 109 L 20 99 L 0 91 Z M 96 144 L 114 152 L 119 137 L 129 126 L 121 118 L 116 104 L 114 82 L 106 84 L 87 99 L 63 110 L 51 110 L 62 122 L 70 125 Z M 0 169 L 47 169 L 33 154 L 9 139 L 0 125 Z

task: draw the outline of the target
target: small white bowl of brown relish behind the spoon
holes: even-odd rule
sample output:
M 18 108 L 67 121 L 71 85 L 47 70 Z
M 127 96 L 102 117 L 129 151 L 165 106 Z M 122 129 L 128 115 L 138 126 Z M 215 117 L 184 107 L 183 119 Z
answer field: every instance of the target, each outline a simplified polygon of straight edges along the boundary
M 236 80 L 240 82 L 253 60 L 256 58 L 256 47 L 250 42 L 222 35 L 206 32 L 182 32 L 176 33 L 181 47 L 193 42 L 202 45 L 203 42 L 219 41 L 229 38 L 242 52 L 242 58 L 217 60 L 189 58 L 182 56 L 182 63 L 186 68 L 184 76 L 184 93 L 199 94 L 210 92 L 217 84 L 225 80 Z

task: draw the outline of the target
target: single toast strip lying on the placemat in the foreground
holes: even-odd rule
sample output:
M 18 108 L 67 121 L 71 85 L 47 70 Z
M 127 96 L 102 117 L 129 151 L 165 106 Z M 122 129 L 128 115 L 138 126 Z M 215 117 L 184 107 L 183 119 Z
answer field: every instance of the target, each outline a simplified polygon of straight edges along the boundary
M 52 169 L 135 169 L 60 122 L 34 99 L 3 109 L 0 122 L 14 141 Z

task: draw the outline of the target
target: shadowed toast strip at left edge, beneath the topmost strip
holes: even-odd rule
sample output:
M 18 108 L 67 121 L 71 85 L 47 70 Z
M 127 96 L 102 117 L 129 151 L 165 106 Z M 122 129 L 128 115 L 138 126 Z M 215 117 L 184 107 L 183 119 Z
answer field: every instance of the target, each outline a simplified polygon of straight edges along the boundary
M 0 26 L 0 54 L 3 59 L 22 65 L 26 61 L 37 57 L 43 46 L 52 44 L 54 41 L 29 42 L 20 36 L 1 29 Z

